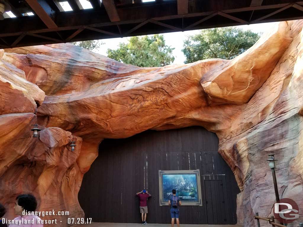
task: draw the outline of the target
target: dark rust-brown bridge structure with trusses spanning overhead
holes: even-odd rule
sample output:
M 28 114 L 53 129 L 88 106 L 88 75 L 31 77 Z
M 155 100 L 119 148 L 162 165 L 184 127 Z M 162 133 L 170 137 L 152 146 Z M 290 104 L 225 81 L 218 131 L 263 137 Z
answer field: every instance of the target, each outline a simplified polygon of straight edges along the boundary
M 303 1 L 291 0 L 89 0 L 91 9 L 79 0 L 6 1 L 16 17 L 0 21 L 0 48 L 303 18 Z

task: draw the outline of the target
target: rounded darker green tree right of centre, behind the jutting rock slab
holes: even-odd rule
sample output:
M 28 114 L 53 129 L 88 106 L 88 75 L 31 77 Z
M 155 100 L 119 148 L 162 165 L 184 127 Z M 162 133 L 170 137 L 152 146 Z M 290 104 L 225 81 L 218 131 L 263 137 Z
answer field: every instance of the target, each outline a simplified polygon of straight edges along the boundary
M 184 63 L 208 58 L 232 59 L 250 48 L 260 35 L 237 27 L 204 29 L 184 42 Z

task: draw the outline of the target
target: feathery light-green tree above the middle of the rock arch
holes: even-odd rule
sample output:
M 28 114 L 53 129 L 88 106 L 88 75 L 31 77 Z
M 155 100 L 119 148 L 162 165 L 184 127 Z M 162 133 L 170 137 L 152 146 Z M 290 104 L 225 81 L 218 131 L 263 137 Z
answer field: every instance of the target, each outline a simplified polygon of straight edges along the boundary
M 175 60 L 172 55 L 174 49 L 165 45 L 163 35 L 134 36 L 128 43 L 120 43 L 118 49 L 108 49 L 107 56 L 125 64 L 161 67 Z

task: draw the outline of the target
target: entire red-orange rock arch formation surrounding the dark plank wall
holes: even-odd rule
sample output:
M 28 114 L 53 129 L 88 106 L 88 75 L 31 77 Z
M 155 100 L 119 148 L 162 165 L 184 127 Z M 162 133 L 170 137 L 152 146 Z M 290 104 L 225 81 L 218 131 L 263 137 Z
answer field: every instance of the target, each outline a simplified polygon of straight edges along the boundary
M 10 163 L 6 166 L 0 162 L 0 176 L 10 179 L 12 173 L 21 172 L 20 176 L 29 177 L 30 184 L 18 176 L 8 183 L 9 189 L 0 183 L 0 192 L 4 191 L 0 195 L 13 193 L 14 197 L 21 191 L 33 191 L 41 199 L 39 210 L 46 209 L 49 203 L 48 208 L 68 209 L 72 215 L 81 216 L 78 190 L 103 138 L 198 125 L 217 133 L 218 152 L 235 174 L 241 189 L 237 199 L 239 223 L 255 226 L 255 212 L 272 215 L 275 194 L 266 161 L 269 153 L 275 153 L 278 159 L 280 197 L 291 198 L 303 207 L 302 27 L 302 20 L 277 23 L 253 47 L 230 61 L 210 59 L 162 68 L 125 65 L 71 44 L 5 50 L 1 67 L 11 69 L 5 73 L 25 75 L 47 96 L 37 113 L 38 123 L 45 129 L 40 140 L 33 142 L 29 129 L 35 122 L 35 110 L 20 108 L 15 101 L 22 97 L 20 92 L 7 90 L 14 102 L 12 107 L 3 105 L 6 112 L 1 114 L 12 113 L 10 110 L 15 108 L 24 111 L 20 116 L 29 120 L 15 122 L 12 119 L 16 116 L 23 118 L 0 115 L 2 130 L 8 133 L 7 140 L 0 139 L 0 160 Z M 35 85 L 30 82 L 25 82 L 31 84 L 27 94 L 33 97 L 31 89 Z M 23 131 L 9 133 L 11 126 L 20 125 Z M 71 137 L 78 145 L 83 139 L 81 152 L 80 146 L 76 153 L 68 150 Z M 13 143 L 15 138 L 22 143 Z M 15 153 L 4 153 L 10 149 Z M 22 155 L 18 156 L 16 150 Z M 30 166 L 29 160 L 36 160 L 38 166 Z M 17 163 L 27 166 L 19 170 Z M 13 197 L 5 199 L 6 204 L 11 204 Z M 303 220 L 302 216 L 299 220 Z

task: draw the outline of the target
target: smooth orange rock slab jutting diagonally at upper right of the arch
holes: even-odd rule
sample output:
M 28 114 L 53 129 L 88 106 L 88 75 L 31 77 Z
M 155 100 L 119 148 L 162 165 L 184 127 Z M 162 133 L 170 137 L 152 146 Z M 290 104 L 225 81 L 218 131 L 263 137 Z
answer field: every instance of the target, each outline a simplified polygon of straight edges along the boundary
M 292 38 L 287 22 L 273 26 L 258 42 L 201 79 L 209 104 L 245 104 L 264 84 Z

